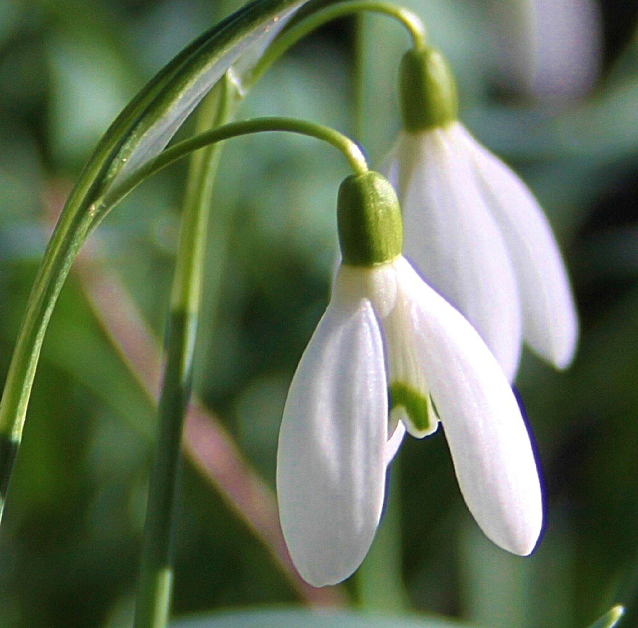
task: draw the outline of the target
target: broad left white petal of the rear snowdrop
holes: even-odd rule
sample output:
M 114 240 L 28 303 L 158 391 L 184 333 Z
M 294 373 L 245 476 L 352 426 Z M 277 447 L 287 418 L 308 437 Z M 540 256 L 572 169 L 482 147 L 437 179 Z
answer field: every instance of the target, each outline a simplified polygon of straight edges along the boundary
M 516 276 L 472 164 L 453 141 L 454 126 L 401 138 L 404 251 L 474 325 L 512 381 L 523 342 Z

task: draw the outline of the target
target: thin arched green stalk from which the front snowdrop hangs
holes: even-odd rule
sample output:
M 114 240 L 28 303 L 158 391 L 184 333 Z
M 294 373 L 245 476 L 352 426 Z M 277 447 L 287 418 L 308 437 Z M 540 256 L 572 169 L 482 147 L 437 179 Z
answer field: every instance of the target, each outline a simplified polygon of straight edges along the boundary
M 308 135 L 309 137 L 323 140 L 338 148 L 346 156 L 356 174 L 367 172 L 366 158 L 359 146 L 353 142 L 353 140 L 346 137 L 346 135 L 343 135 L 343 133 L 339 133 L 339 131 L 335 131 L 322 124 L 315 124 L 306 120 L 297 120 L 288 117 L 263 117 L 234 122 L 225 124 L 211 131 L 206 131 L 205 133 L 200 133 L 195 137 L 175 144 L 159 154 L 156 158 L 147 161 L 144 166 L 136 170 L 126 181 L 108 190 L 107 193 L 98 198 L 94 203 L 98 209 L 96 210 L 96 219 L 93 222 L 92 228 L 97 226 L 101 217 L 108 213 L 122 198 L 135 190 L 142 181 L 187 154 L 204 148 L 205 146 L 229 140 L 233 137 L 270 131 L 299 133 L 300 135 Z

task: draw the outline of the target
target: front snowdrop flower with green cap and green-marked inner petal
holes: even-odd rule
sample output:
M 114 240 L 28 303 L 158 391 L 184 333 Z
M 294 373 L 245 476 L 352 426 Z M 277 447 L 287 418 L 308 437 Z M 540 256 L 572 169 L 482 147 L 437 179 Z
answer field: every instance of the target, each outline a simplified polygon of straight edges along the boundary
M 424 437 L 439 421 L 480 527 L 502 548 L 528 555 L 542 498 L 503 371 L 401 255 L 401 211 L 387 179 L 375 172 L 345 179 L 338 223 L 343 262 L 279 432 L 279 515 L 295 566 L 315 586 L 359 567 L 404 431 Z

